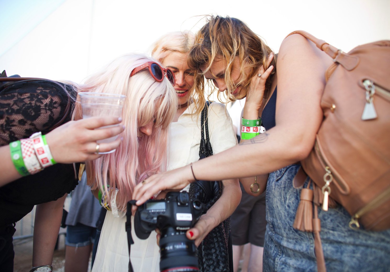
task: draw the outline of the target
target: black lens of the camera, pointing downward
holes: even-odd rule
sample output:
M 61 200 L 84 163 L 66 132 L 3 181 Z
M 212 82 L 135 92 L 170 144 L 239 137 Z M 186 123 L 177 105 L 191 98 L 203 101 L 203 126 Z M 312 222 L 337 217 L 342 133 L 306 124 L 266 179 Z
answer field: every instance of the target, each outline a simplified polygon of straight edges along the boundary
M 185 231 L 177 231 L 172 227 L 161 230 L 160 271 L 199 271 L 197 248 L 194 241 L 186 237 Z

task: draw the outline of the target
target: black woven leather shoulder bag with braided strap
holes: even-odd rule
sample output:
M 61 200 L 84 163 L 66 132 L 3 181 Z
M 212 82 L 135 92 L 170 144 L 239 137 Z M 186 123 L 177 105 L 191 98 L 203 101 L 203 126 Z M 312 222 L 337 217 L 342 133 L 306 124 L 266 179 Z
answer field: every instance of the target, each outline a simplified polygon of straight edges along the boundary
M 207 101 L 201 114 L 202 136 L 200 140 L 199 159 L 213 155 L 207 123 Z M 205 140 L 206 134 L 206 140 Z M 222 182 L 199 180 L 190 184 L 190 197 L 198 198 L 209 209 L 221 196 Z M 230 234 L 230 217 L 220 223 L 204 238 L 198 247 L 199 269 L 201 272 L 232 272 L 232 240 Z

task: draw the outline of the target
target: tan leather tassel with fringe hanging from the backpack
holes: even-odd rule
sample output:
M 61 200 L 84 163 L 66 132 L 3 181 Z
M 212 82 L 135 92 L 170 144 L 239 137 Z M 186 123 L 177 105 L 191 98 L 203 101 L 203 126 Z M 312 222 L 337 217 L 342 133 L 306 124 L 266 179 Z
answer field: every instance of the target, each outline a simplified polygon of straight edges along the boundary
M 313 190 L 307 188 L 301 190 L 301 201 L 296 211 L 293 228 L 300 231 L 313 231 Z

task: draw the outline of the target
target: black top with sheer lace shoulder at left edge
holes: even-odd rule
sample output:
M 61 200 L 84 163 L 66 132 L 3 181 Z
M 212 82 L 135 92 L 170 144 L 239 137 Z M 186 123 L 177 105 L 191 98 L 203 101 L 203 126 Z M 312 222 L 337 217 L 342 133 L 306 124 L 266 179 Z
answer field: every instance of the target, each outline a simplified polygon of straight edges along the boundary
M 68 94 L 76 97 L 73 88 L 55 81 L 0 82 L 0 145 L 37 131 L 46 134 L 71 120 L 74 100 Z M 36 204 L 70 193 L 77 185 L 73 169 L 73 164 L 55 164 L 0 187 L 0 226 L 19 221 Z

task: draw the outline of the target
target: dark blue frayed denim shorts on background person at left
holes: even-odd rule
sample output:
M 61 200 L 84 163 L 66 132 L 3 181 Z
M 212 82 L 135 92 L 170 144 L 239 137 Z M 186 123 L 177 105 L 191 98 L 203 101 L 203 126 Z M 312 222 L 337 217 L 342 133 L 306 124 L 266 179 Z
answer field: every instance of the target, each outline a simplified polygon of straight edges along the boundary
M 93 244 L 96 237 L 96 228 L 77 223 L 76 226 L 66 227 L 66 246 L 85 247 Z

